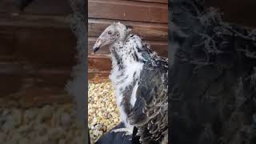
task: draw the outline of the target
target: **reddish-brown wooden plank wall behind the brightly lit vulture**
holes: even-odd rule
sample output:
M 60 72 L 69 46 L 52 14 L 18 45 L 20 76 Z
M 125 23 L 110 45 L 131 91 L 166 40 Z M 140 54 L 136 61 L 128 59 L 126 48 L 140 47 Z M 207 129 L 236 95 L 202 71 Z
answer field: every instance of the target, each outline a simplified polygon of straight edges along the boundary
M 107 47 L 92 54 L 92 46 L 113 22 L 133 26 L 158 54 L 167 57 L 168 0 L 89 0 L 88 74 L 90 79 L 108 78 L 111 69 Z

